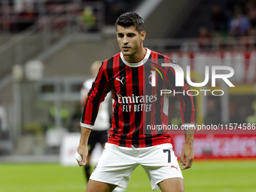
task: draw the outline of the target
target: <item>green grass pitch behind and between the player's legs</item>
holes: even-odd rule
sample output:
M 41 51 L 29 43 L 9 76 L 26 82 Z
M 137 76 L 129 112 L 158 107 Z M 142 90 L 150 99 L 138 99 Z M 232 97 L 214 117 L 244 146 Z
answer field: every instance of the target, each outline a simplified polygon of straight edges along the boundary
M 255 160 L 194 161 L 191 169 L 182 171 L 188 192 L 251 192 L 256 191 Z M 81 167 L 59 164 L 1 163 L 1 192 L 76 192 L 84 191 Z M 152 191 L 141 166 L 133 172 L 126 192 Z M 157 190 L 160 191 L 160 190 Z

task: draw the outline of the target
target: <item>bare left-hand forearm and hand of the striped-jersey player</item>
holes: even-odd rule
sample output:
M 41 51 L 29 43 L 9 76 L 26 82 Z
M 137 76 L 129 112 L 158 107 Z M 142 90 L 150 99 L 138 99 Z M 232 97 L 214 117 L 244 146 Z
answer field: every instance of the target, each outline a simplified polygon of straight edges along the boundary
M 91 129 L 81 126 L 81 138 L 80 143 L 78 146 L 78 154 L 80 154 L 82 160 L 78 160 L 79 166 L 85 166 L 87 163 L 87 154 L 88 154 L 88 148 L 87 148 L 87 142 L 90 136 Z

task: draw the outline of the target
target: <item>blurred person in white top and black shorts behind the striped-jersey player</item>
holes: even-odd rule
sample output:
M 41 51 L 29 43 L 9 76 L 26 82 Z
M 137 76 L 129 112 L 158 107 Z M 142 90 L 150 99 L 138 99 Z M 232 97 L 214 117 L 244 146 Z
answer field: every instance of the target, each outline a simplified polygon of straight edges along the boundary
M 96 78 L 97 73 L 99 72 L 99 67 L 101 66 L 101 61 L 93 62 L 90 67 L 90 74 L 92 78 L 84 81 L 83 87 L 81 88 L 81 107 L 84 109 L 84 105 L 87 102 L 87 95 L 92 87 L 93 81 Z M 90 157 L 93 153 L 93 149 L 96 144 L 99 143 L 102 146 L 102 149 L 105 147 L 105 142 L 108 141 L 108 129 L 110 128 L 109 123 L 109 112 L 108 112 L 108 103 L 110 102 L 111 95 L 105 97 L 105 101 L 102 102 L 99 106 L 99 113 L 94 123 L 94 128 L 90 133 L 90 139 L 88 140 L 88 155 L 87 155 L 87 164 L 84 166 L 84 172 L 89 181 L 90 178 Z

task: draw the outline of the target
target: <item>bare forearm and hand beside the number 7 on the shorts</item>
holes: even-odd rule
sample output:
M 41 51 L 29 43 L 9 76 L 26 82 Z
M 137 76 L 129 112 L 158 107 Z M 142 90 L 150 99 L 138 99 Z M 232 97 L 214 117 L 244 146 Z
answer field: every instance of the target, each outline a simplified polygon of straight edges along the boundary
M 185 130 L 185 144 L 181 151 L 181 169 L 189 169 L 194 160 L 194 131 Z M 186 160 L 184 160 L 186 159 Z

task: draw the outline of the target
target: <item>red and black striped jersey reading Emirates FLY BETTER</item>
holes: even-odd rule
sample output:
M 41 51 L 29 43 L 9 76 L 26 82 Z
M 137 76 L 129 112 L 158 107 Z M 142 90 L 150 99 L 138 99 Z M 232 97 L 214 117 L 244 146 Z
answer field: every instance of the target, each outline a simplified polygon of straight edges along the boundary
M 99 104 L 111 91 L 114 104 L 109 143 L 128 148 L 169 143 L 170 136 L 164 130 L 148 130 L 148 125 L 168 124 L 169 94 L 162 94 L 162 90 L 178 93 L 182 123 L 194 123 L 195 112 L 186 81 L 183 87 L 176 87 L 175 70 L 162 63 L 172 63 L 172 59 L 149 49 L 138 63 L 127 62 L 123 53 L 103 61 L 88 93 L 81 126 L 93 128 Z

